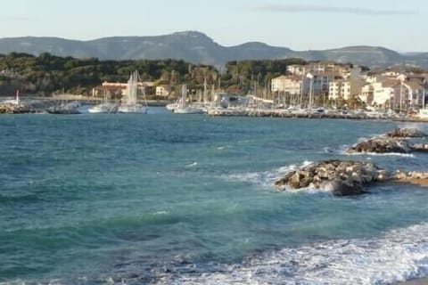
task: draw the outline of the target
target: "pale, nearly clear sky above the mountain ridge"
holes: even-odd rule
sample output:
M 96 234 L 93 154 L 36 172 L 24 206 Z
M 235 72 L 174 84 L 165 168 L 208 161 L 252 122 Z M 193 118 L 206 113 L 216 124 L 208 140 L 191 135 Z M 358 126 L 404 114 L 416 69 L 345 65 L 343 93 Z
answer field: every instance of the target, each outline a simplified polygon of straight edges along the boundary
M 0 37 L 89 40 L 195 30 L 219 45 L 428 52 L 426 0 L 3 0 Z

